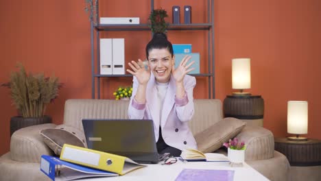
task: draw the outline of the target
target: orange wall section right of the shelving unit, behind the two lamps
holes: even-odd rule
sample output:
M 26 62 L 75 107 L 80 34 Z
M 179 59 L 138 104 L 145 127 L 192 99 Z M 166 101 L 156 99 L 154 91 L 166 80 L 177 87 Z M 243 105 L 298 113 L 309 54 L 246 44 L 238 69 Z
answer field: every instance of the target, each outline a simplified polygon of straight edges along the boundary
M 321 1 L 216 1 L 216 97 L 230 93 L 231 59 L 251 58 L 264 127 L 287 134 L 287 101 L 309 102 L 309 138 L 321 139 Z

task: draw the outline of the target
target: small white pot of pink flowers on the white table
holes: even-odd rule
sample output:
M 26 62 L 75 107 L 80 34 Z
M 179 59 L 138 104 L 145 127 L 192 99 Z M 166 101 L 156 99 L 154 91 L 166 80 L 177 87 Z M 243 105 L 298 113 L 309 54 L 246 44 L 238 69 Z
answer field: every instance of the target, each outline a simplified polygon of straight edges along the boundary
M 224 147 L 228 148 L 228 160 L 232 166 L 243 165 L 245 160 L 245 143 L 239 142 L 237 138 L 229 140 L 228 143 L 223 143 Z

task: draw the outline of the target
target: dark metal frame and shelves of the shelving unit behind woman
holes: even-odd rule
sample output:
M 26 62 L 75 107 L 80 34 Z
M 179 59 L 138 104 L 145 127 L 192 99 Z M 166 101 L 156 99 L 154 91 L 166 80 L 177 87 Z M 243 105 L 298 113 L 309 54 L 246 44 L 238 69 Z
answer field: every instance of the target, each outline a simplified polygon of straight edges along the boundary
M 154 0 L 151 1 L 151 10 L 154 10 Z M 96 13 L 99 14 L 99 1 L 96 5 Z M 206 30 L 207 34 L 207 48 L 208 48 L 208 73 L 200 74 L 189 74 L 195 77 L 208 77 L 209 80 L 209 99 L 215 98 L 215 73 L 214 73 L 214 0 L 207 0 L 207 19 L 209 23 L 191 23 L 191 24 L 169 24 L 167 30 Z M 93 15 L 93 12 L 90 12 Z M 96 17 L 96 22 L 99 22 L 99 16 Z M 94 40 L 94 31 L 96 33 L 96 40 Z M 97 78 L 97 99 L 100 99 L 100 78 L 102 77 L 132 77 L 131 74 L 125 75 L 101 75 L 99 74 L 100 64 L 99 64 L 99 32 L 111 32 L 111 31 L 151 31 L 150 27 L 147 24 L 139 25 L 105 25 L 98 24 L 94 25 L 94 22 L 91 21 L 91 79 L 92 79 L 92 95 L 91 97 L 95 99 L 95 79 Z M 95 72 L 95 52 L 94 45 L 97 46 L 97 70 Z M 211 46 L 212 45 L 212 46 Z

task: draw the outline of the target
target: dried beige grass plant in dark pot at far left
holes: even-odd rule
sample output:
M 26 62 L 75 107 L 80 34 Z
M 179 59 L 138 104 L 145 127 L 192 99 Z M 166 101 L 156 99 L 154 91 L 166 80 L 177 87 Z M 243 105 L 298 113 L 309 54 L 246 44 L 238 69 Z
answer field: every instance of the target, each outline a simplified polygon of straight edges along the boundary
M 51 123 L 51 117 L 45 115 L 45 110 L 47 104 L 58 96 L 58 89 L 62 86 L 58 77 L 27 74 L 22 64 L 18 67 L 19 71 L 11 73 L 10 82 L 1 85 L 10 88 L 19 114 L 10 120 L 10 135 L 29 125 Z

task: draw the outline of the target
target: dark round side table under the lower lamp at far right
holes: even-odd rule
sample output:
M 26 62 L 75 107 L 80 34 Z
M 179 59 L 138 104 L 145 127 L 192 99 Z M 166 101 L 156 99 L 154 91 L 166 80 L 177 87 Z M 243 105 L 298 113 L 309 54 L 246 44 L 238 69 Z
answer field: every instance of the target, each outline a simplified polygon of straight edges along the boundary
M 291 180 L 321 179 L 321 141 L 289 141 L 287 138 L 274 139 L 275 150 L 287 157 L 291 165 Z

